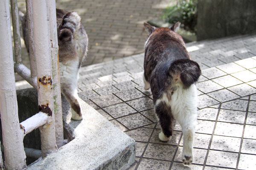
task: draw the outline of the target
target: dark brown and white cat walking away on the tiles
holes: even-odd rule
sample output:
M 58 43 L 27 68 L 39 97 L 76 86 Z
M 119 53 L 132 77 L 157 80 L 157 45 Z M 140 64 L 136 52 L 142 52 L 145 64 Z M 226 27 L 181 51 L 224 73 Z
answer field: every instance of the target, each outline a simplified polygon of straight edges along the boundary
M 162 128 L 161 141 L 173 133 L 173 119 L 182 127 L 183 164 L 193 161 L 193 140 L 197 122 L 197 90 L 195 82 L 201 75 L 198 63 L 191 60 L 182 37 L 170 28 L 155 28 L 144 23 L 149 32 L 145 42 L 145 90 L 151 88 L 155 111 Z

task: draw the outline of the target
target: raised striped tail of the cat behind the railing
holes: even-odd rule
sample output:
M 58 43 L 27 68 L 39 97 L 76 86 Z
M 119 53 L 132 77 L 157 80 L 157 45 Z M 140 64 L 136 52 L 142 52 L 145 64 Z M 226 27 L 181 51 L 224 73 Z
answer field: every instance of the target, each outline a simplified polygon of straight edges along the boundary
M 58 40 L 70 41 L 75 36 L 76 31 L 81 27 L 81 18 L 76 12 L 69 12 L 64 15 L 58 31 Z

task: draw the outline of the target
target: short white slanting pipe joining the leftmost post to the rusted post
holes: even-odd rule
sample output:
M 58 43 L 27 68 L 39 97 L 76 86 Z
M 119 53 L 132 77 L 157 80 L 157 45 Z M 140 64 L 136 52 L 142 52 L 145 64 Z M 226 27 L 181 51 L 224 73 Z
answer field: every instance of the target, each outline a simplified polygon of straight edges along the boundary
M 20 129 L 25 136 L 27 133 L 32 132 L 32 130 L 46 124 L 48 118 L 49 116 L 43 112 L 36 113 L 35 115 L 21 122 Z

